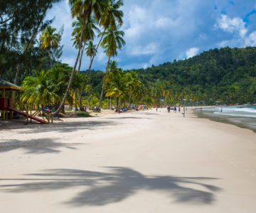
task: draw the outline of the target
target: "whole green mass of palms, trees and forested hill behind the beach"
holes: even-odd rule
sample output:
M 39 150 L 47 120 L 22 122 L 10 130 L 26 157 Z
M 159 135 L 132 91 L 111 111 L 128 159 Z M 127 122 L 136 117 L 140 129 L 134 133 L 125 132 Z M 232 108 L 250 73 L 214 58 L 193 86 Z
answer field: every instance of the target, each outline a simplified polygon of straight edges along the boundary
M 64 27 L 46 12 L 57 0 L 4 1 L 0 6 L 0 77 L 25 88 L 16 98 L 54 114 L 65 104 L 116 111 L 145 104 L 243 104 L 256 102 L 256 48 L 220 48 L 146 69 L 122 70 L 114 60 L 125 45 L 123 0 L 70 0 L 75 65 L 60 61 Z M 17 6 L 18 5 L 18 6 Z M 29 13 L 27 11 L 30 11 Z M 98 42 L 95 43 L 95 38 Z M 93 70 L 99 48 L 105 72 Z M 87 70 L 81 70 L 87 62 Z M 83 66 L 84 67 L 84 66 Z M 79 107 L 78 107 L 79 106 Z

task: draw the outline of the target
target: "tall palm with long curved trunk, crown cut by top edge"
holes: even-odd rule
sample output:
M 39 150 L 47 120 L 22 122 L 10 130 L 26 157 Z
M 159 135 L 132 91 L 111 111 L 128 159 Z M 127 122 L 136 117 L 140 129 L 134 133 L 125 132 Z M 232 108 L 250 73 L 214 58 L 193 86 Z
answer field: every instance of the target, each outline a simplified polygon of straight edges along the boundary
M 86 26 L 86 23 L 90 21 L 90 17 L 92 16 L 92 13 L 94 14 L 94 17 L 96 21 L 100 21 L 100 18 L 102 16 L 102 12 L 107 9 L 107 0 L 70 0 L 71 5 L 71 13 L 73 18 L 74 17 L 81 17 L 82 18 L 82 33 L 80 36 L 80 44 L 79 44 L 79 50 L 78 55 L 75 60 L 75 65 L 73 67 L 73 71 L 70 76 L 70 81 L 68 82 L 68 88 L 65 92 L 65 96 L 63 98 L 63 102 L 61 102 L 60 107 L 54 112 L 54 115 L 58 114 L 60 109 L 63 108 L 65 104 L 65 100 L 68 97 L 68 92 L 71 87 L 71 84 L 73 82 L 73 77 L 75 75 L 75 69 L 78 65 L 78 60 L 80 57 L 80 50 L 82 48 L 82 39 L 84 35 L 84 29 Z

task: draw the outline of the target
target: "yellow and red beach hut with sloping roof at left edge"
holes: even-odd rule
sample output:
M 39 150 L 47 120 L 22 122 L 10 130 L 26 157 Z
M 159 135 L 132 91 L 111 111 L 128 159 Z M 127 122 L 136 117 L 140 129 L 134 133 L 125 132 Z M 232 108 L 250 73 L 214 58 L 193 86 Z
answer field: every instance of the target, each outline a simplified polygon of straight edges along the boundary
M 8 119 L 8 107 L 14 107 L 14 91 L 24 91 L 24 89 L 0 78 L 0 111 L 2 119 Z M 10 119 L 13 119 L 12 111 L 10 111 Z

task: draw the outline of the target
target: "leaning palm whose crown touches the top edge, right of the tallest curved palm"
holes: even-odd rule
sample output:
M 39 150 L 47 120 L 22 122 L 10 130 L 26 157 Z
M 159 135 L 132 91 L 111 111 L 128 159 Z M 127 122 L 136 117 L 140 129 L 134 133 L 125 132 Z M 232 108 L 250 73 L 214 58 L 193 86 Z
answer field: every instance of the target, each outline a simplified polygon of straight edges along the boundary
M 120 6 L 124 5 L 124 1 L 123 0 L 119 0 L 117 2 L 115 2 L 114 0 L 108 0 L 108 6 L 107 6 L 107 10 L 103 11 L 102 13 L 102 18 L 100 18 L 100 26 L 104 27 L 104 31 L 103 33 L 100 33 L 100 41 L 97 44 L 97 48 L 96 48 L 96 52 L 92 55 L 92 60 L 90 62 L 90 66 L 87 70 L 87 75 L 90 72 L 90 69 L 92 67 L 92 62 L 95 58 L 95 55 L 97 53 L 97 49 L 100 46 L 100 43 L 102 41 L 102 38 L 105 35 L 105 32 L 107 31 L 107 28 L 112 28 L 113 30 L 116 29 L 117 23 L 119 24 L 119 26 L 122 26 L 122 17 L 124 16 L 123 11 L 120 11 L 119 8 Z

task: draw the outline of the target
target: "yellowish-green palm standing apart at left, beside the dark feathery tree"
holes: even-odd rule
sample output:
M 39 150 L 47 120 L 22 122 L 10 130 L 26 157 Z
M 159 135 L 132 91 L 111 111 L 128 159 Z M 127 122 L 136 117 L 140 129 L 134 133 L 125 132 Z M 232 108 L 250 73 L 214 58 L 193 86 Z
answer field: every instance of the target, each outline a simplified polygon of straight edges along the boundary
M 60 43 L 61 35 L 58 33 L 55 33 L 56 28 L 53 28 L 51 26 L 48 26 L 42 33 L 40 37 L 41 41 L 41 48 L 42 49 L 48 49 L 49 50 L 49 56 L 50 56 L 50 67 L 52 67 L 52 58 L 51 58 L 51 49 L 57 49 L 58 45 Z

